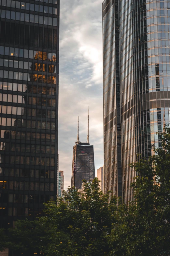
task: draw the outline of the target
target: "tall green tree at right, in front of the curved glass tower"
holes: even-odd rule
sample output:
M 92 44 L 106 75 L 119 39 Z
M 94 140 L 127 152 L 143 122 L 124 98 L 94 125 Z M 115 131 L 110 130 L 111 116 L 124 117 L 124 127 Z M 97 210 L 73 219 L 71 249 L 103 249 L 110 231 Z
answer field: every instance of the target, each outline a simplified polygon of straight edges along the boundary
M 155 149 L 149 162 L 131 164 L 135 200 L 113 213 L 110 255 L 170 255 L 170 128 L 161 136 L 163 149 Z

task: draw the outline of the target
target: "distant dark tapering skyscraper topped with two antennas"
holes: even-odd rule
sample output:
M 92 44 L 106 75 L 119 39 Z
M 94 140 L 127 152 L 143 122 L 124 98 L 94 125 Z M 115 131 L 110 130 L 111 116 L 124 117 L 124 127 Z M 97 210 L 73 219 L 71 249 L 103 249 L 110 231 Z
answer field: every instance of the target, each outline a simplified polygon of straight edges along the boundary
M 74 163 L 76 174 L 74 175 Z M 73 147 L 73 164 L 71 186 L 81 189 L 83 180 L 92 181 L 95 178 L 94 149 L 89 143 L 89 113 L 88 113 L 88 136 L 87 142 L 79 141 L 79 121 L 76 145 Z

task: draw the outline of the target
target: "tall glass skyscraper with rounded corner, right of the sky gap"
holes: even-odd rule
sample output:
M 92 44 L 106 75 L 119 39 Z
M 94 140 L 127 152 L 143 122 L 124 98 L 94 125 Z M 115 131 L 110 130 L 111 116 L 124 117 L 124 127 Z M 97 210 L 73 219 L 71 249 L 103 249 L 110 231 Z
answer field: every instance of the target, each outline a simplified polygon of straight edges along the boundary
M 133 200 L 129 164 L 161 148 L 170 114 L 170 2 L 103 2 L 105 192 Z M 140 154 L 138 156 L 138 154 Z

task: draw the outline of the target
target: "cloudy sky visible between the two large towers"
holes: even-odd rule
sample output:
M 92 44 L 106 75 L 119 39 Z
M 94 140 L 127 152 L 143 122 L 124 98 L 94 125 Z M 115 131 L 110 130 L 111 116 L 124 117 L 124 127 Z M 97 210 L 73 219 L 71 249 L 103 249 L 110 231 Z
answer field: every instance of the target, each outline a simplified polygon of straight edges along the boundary
M 59 170 L 71 185 L 73 146 L 94 145 L 95 172 L 103 166 L 102 0 L 60 0 Z

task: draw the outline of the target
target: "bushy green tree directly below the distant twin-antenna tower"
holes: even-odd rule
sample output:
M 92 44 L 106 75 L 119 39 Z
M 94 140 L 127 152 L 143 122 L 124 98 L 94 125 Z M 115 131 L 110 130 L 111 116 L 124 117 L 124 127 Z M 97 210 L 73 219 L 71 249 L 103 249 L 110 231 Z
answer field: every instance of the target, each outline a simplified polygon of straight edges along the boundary
M 44 247 L 48 256 L 103 256 L 109 248 L 106 235 L 111 227 L 108 195 L 99 189 L 99 181 L 86 181 L 83 193 L 69 188 L 64 198 L 46 204 L 45 229 L 51 229 L 50 243 Z

